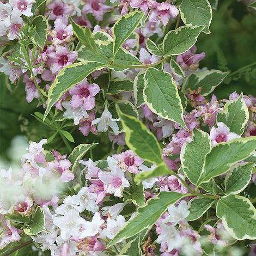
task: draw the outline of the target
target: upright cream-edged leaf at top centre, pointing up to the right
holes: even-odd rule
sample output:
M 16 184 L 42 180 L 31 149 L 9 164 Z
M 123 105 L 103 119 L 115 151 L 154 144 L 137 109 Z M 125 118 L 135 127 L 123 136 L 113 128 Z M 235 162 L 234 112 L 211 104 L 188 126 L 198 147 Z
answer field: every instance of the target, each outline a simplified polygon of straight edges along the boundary
M 119 18 L 113 27 L 113 58 L 117 54 L 119 48 L 124 44 L 125 40 L 135 31 L 141 23 L 144 13 L 134 11 L 133 13 L 123 15 Z

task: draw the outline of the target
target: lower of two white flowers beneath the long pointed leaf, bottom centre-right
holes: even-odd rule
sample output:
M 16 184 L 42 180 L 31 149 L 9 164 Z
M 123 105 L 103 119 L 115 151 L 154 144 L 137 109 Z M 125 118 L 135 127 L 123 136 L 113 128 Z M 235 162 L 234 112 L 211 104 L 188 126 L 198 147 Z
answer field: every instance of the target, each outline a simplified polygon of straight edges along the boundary
M 167 225 L 160 223 L 162 233 L 157 237 L 157 243 L 166 243 L 168 246 L 168 252 L 174 248 L 179 248 L 181 245 L 181 237 L 178 230 L 173 225 Z

